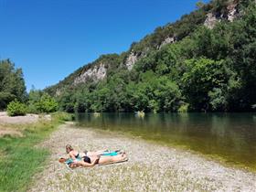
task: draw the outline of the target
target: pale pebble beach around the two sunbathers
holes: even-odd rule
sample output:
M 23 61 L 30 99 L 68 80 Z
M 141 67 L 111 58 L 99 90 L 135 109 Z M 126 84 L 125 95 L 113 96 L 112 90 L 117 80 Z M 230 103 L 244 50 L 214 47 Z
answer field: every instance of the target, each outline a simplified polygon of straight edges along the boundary
M 58 159 L 65 145 L 77 150 L 123 149 L 129 161 L 70 171 Z M 41 144 L 51 151 L 44 172 L 29 191 L 255 191 L 256 175 L 138 137 L 71 124 L 61 125 Z M 39 146 L 39 147 L 41 147 Z

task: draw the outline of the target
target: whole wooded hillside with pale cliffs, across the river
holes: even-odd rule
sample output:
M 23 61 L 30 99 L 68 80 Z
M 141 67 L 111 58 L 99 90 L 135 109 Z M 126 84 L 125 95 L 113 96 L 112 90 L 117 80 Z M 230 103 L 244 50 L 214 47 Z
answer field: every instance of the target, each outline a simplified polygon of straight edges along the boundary
M 189 15 L 47 88 L 67 112 L 237 112 L 256 108 L 254 0 Z

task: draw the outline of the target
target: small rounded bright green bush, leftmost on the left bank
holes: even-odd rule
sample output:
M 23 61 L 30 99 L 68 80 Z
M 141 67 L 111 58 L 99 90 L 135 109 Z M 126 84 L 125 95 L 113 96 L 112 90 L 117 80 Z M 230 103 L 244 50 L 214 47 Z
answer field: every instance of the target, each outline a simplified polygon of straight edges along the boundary
M 7 113 L 9 116 L 26 115 L 27 106 L 20 101 L 11 101 L 7 105 Z

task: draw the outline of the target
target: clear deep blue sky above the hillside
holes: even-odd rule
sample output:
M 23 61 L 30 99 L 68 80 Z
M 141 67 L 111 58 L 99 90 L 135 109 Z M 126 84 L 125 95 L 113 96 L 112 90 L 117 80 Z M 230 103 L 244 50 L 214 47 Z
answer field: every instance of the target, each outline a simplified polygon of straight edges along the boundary
M 197 1 L 0 0 L 0 59 L 23 69 L 27 90 L 43 89 L 101 54 L 127 50 Z

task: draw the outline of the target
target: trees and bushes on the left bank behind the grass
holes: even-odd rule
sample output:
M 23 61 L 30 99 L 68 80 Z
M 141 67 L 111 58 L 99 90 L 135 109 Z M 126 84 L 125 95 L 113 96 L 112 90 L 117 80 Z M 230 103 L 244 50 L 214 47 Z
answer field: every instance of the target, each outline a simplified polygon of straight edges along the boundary
M 27 112 L 56 112 L 58 102 L 47 92 L 32 89 L 27 93 L 22 69 L 10 59 L 0 60 L 0 110 L 11 116 Z

